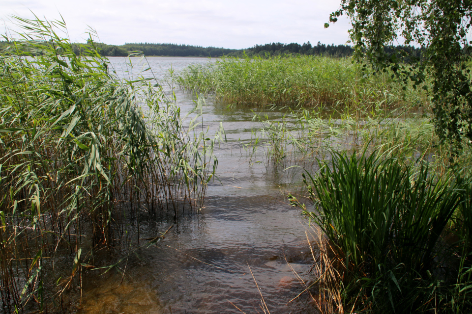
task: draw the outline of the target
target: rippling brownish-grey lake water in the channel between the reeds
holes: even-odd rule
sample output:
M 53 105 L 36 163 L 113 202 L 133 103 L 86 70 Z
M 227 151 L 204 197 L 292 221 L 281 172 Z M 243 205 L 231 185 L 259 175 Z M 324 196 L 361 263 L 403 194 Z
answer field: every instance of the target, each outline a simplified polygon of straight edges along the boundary
M 135 76 L 142 67 L 131 69 L 126 58 L 110 60 L 119 77 Z M 178 72 L 214 59 L 148 57 L 147 61 L 162 80 L 171 66 Z M 194 105 L 192 97 L 175 92 L 182 111 L 188 112 Z M 274 111 L 268 114 L 281 118 Z M 250 270 L 271 313 L 314 313 L 307 294 L 289 303 L 304 289 L 295 272 L 305 282 L 314 279 L 308 274 L 312 258 L 306 224 L 285 197 L 299 178 L 279 169 L 283 167 L 266 166 L 261 162 L 263 151 L 248 157 L 240 140 L 249 140 L 251 131 L 260 127 L 251 121 L 250 108 L 230 110 L 207 99 L 203 117 L 210 134 L 223 122 L 228 140 L 215 150 L 218 181 L 207 189 L 205 208 L 184 217 L 157 245 L 129 254 L 124 277 L 116 271 L 85 275 L 78 313 L 241 313 L 237 308 L 263 313 Z M 141 229 L 151 236 L 169 226 L 158 221 L 142 223 Z

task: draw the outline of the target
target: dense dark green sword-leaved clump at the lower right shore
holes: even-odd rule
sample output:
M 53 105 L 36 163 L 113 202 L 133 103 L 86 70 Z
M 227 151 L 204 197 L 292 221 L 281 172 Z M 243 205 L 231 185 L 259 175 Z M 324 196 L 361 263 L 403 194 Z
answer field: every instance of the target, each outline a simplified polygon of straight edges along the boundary
M 369 313 L 466 313 L 471 287 L 470 226 L 458 242 L 454 215 L 471 214 L 471 183 L 402 164 L 378 152 L 332 152 L 305 176 L 313 208 L 294 206 L 322 228 L 342 259 L 345 309 Z M 463 249 L 464 248 L 464 249 Z M 459 261 L 459 266 L 457 262 Z M 459 275 L 457 275 L 459 272 Z

